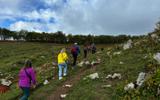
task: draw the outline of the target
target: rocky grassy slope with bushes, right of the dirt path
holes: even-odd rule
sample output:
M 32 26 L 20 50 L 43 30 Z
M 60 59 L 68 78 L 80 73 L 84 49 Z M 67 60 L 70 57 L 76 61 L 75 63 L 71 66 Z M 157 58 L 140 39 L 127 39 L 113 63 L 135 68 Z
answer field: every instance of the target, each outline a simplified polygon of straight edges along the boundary
M 154 34 L 154 35 L 153 35 Z M 158 36 L 158 37 L 157 37 Z M 96 67 L 99 79 L 83 78 L 68 93 L 66 100 L 151 100 L 160 99 L 160 65 L 154 55 L 160 52 L 160 31 L 134 40 L 130 49 L 105 49 L 97 54 L 102 63 Z M 119 52 L 119 53 L 118 53 Z M 145 73 L 144 82 L 137 86 L 140 72 Z M 88 72 L 88 75 L 93 72 Z M 120 73 L 121 79 L 107 79 L 109 74 Z M 85 77 L 85 76 L 84 76 Z M 133 83 L 128 90 L 124 87 Z

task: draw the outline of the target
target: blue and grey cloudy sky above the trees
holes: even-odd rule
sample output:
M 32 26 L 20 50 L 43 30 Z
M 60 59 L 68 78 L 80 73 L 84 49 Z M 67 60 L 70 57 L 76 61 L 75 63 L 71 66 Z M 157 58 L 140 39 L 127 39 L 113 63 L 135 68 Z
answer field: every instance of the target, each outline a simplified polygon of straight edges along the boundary
M 145 34 L 160 0 L 0 0 L 0 27 L 72 34 Z

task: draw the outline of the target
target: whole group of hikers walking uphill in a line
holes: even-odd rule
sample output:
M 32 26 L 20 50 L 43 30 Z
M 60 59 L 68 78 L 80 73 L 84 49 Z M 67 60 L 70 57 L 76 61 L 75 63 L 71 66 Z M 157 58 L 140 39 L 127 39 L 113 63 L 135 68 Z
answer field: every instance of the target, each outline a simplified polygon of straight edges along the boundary
M 83 51 L 84 51 L 84 59 L 86 59 L 89 52 L 92 52 L 92 54 L 96 52 L 96 46 L 94 43 L 92 45 L 85 44 Z M 70 52 L 73 57 L 72 69 L 75 69 L 77 57 L 81 53 L 79 45 L 77 43 L 74 43 L 74 45 L 70 48 Z M 57 60 L 58 60 L 58 79 L 62 80 L 63 77 L 67 75 L 67 66 L 69 61 L 66 48 L 62 48 L 60 50 Z M 35 88 L 36 84 L 37 84 L 36 71 L 32 67 L 32 62 L 30 60 L 26 60 L 24 67 L 19 72 L 18 85 L 23 91 L 23 96 L 20 98 L 20 100 L 28 100 L 28 97 L 30 95 L 30 88 L 31 87 Z

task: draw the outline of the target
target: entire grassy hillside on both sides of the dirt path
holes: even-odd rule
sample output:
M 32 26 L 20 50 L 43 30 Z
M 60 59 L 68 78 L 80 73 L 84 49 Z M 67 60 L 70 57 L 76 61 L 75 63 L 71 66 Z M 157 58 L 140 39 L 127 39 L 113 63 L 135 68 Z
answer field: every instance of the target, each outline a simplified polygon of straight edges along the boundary
M 98 45 L 98 53 L 95 55 L 89 54 L 88 60 L 100 58 L 101 63 L 96 66 L 96 70 L 86 70 L 79 82 L 67 93 L 66 100 L 149 100 L 158 99 L 156 97 L 157 86 L 160 84 L 159 65 L 153 59 L 153 55 L 160 52 L 160 45 L 153 43 L 148 38 L 134 40 L 134 45 L 128 50 L 123 50 L 122 46 L 118 45 Z M 67 45 L 65 47 L 69 47 Z M 55 45 L 48 43 L 9 43 L 0 42 L 0 72 L 4 73 L 0 78 L 13 76 L 14 83 L 11 85 L 11 90 L 5 94 L 0 94 L 2 100 L 12 100 L 21 94 L 21 90 L 16 87 L 17 75 L 25 59 L 29 58 L 33 61 L 33 66 L 37 70 L 37 79 L 42 83 L 45 79 L 51 78 L 50 83 L 41 86 L 34 90 L 30 96 L 30 100 L 46 100 L 46 97 L 52 95 L 57 87 L 69 78 L 76 77 L 77 72 L 82 69 L 78 67 L 71 70 L 69 65 L 69 75 L 63 80 L 58 81 L 52 79 L 57 75 L 57 67 L 52 65 L 52 62 L 57 62 L 57 54 L 64 45 Z M 104 51 L 100 51 L 100 48 Z M 54 55 L 53 55 L 54 52 Z M 114 54 L 121 52 L 120 54 Z M 69 53 L 69 52 L 68 52 Z M 70 55 L 71 56 L 71 55 Z M 79 57 L 79 61 L 83 58 L 83 53 Z M 71 61 L 72 59 L 70 59 Z M 120 62 L 123 62 L 122 64 Z M 156 70 L 154 70 L 156 66 Z M 149 70 L 150 77 L 144 83 L 142 88 L 131 91 L 124 91 L 125 85 L 136 81 L 140 72 Z M 154 72 L 150 72 L 154 70 Z M 97 72 L 99 79 L 91 80 L 83 78 L 87 75 Z M 108 74 L 120 73 L 122 79 L 106 79 Z M 156 84 L 154 84 L 156 82 Z M 111 85 L 111 87 L 103 87 Z M 147 90 L 149 87 L 150 91 Z

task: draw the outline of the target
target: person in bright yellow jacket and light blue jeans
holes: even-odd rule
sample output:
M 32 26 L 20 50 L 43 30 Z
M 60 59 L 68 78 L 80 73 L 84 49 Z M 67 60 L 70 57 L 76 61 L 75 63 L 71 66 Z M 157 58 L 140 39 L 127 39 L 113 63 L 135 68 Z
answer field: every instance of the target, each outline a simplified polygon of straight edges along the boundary
M 63 71 L 63 76 L 67 75 L 67 61 L 68 61 L 68 55 L 66 53 L 66 49 L 63 48 L 60 53 L 58 54 L 58 69 L 59 69 L 59 80 L 61 80 L 62 77 L 62 69 L 64 68 Z

